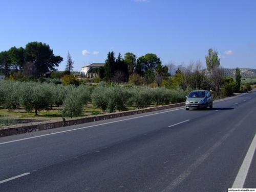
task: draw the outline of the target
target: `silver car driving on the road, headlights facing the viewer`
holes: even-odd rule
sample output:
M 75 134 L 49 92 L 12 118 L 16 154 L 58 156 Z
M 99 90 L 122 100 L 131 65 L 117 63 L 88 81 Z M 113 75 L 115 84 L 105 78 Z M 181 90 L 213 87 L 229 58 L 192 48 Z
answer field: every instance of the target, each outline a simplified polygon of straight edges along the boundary
M 189 110 L 189 108 L 207 109 L 207 107 L 212 109 L 212 95 L 208 90 L 191 91 L 186 98 L 186 110 Z

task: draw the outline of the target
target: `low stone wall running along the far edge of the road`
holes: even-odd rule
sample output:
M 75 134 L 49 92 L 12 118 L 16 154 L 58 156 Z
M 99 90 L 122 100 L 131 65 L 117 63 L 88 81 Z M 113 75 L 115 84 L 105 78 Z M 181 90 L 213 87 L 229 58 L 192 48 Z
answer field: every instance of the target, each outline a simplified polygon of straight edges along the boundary
M 163 109 L 170 109 L 170 108 L 181 107 L 181 106 L 185 106 L 185 103 L 170 104 L 170 105 L 164 105 L 159 107 L 150 107 L 146 109 L 122 111 L 122 112 L 115 112 L 115 113 L 102 114 L 102 115 L 77 117 L 77 118 L 67 119 L 64 121 L 48 121 L 48 122 L 41 122 L 41 123 L 39 122 L 39 123 L 5 126 L 0 129 L 0 137 L 42 131 L 47 129 L 60 128 L 65 126 L 72 126 L 72 125 L 89 123 L 89 122 L 96 122 L 96 121 L 101 121 L 105 119 L 147 113 L 152 111 L 159 111 Z

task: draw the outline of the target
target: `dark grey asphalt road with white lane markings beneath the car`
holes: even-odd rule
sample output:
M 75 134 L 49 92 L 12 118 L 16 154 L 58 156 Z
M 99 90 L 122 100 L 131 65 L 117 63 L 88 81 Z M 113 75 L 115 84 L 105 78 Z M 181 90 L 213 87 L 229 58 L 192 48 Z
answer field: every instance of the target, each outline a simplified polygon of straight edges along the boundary
M 0 138 L 0 191 L 256 188 L 256 92 Z

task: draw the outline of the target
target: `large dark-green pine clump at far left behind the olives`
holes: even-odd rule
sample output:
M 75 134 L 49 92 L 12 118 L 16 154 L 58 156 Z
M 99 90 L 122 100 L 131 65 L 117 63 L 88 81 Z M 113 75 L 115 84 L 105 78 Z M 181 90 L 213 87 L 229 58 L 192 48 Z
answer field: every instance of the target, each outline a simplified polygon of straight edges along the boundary
M 48 44 L 29 42 L 25 48 L 13 46 L 8 51 L 0 52 L 0 75 L 9 77 L 19 72 L 39 78 L 49 71 L 56 71 L 61 61 L 63 58 L 55 56 Z

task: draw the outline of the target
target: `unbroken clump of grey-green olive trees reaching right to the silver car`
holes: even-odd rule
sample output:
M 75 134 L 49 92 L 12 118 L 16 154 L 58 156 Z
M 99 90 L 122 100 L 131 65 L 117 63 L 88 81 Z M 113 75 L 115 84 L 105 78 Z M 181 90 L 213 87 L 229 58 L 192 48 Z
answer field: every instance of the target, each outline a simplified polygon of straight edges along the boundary
M 128 107 L 137 109 L 151 105 L 168 105 L 185 102 L 186 95 L 191 90 L 146 88 L 142 86 L 119 86 L 114 84 L 107 87 L 105 83 L 99 84 L 92 92 L 93 105 L 103 111 L 123 111 Z

